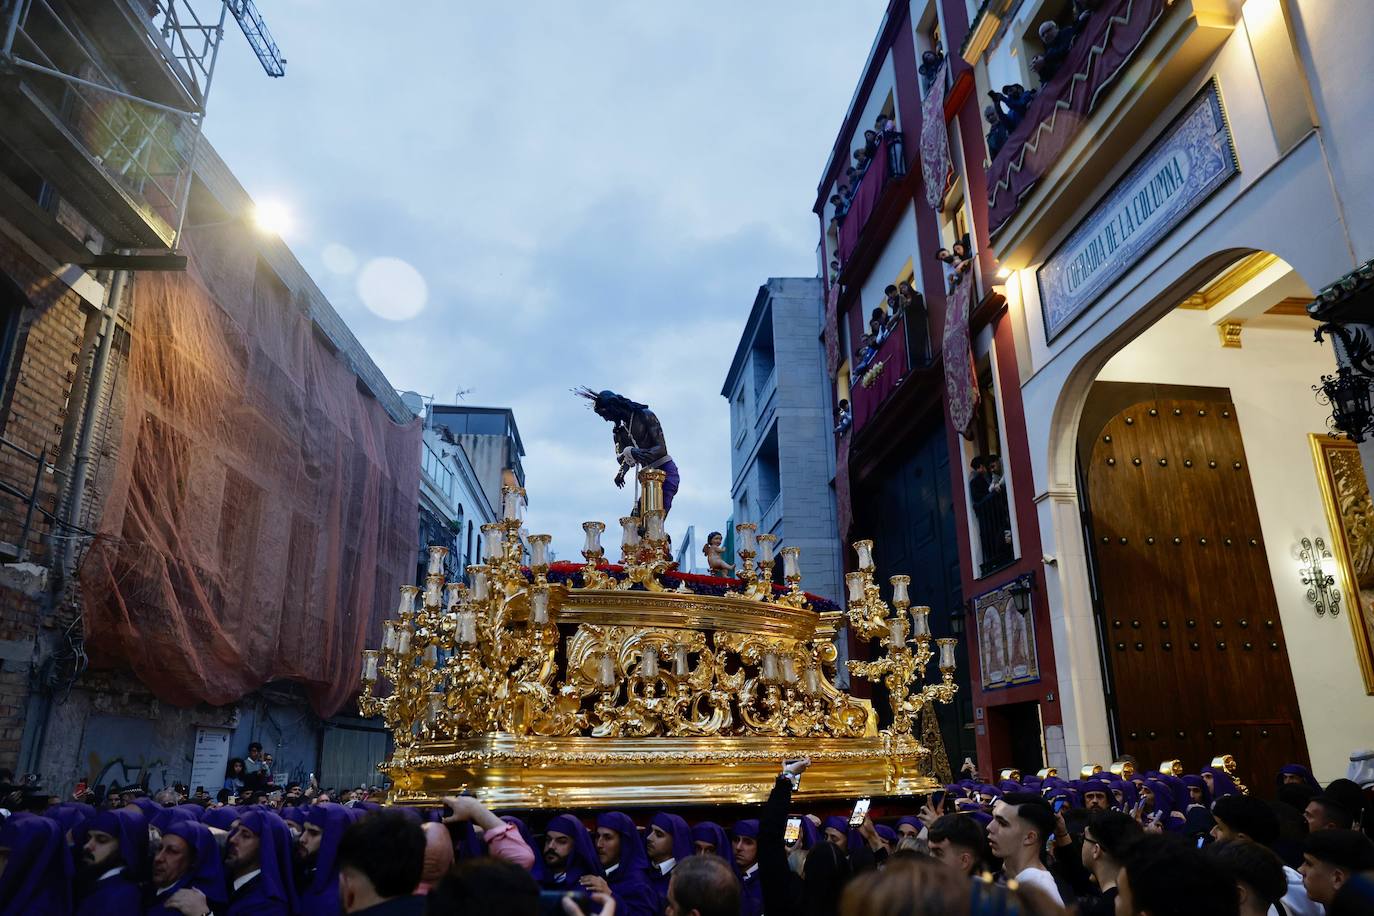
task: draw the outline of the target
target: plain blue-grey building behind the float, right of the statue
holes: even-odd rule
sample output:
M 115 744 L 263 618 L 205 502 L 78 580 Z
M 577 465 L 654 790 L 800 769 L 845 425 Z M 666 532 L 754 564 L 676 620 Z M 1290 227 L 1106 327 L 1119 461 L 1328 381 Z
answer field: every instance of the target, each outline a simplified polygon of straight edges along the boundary
M 758 287 L 720 393 L 731 405 L 734 518 L 757 519 L 758 533 L 778 536 L 779 548 L 800 547 L 807 591 L 838 600 L 844 575 L 823 316 L 819 279 L 771 277 Z

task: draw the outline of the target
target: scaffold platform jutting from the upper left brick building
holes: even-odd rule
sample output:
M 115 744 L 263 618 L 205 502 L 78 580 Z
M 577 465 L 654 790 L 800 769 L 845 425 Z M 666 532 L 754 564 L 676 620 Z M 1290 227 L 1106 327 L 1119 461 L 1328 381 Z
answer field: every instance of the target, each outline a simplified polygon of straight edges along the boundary
M 184 0 L 155 12 L 133 0 L 8 7 L 0 141 L 106 249 L 173 247 L 223 18 L 201 22 Z M 52 235 L 41 213 L 21 216 L 33 238 Z

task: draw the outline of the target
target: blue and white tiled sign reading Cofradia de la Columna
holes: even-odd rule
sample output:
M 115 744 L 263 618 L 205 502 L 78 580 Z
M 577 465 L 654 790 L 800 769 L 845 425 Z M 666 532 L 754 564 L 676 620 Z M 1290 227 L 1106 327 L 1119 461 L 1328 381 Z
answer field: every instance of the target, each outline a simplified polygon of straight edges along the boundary
M 1046 338 L 1052 341 L 1238 170 L 1212 80 L 1036 272 Z

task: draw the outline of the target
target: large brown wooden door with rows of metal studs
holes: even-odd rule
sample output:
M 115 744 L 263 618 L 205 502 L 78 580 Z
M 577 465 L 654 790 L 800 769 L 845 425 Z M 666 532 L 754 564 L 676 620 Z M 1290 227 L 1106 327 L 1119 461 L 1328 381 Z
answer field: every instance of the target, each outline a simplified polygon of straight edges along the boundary
M 1307 762 L 1307 740 L 1235 407 L 1142 401 L 1091 455 L 1121 751 L 1189 772 L 1234 754 L 1242 780 L 1268 790 L 1281 765 Z

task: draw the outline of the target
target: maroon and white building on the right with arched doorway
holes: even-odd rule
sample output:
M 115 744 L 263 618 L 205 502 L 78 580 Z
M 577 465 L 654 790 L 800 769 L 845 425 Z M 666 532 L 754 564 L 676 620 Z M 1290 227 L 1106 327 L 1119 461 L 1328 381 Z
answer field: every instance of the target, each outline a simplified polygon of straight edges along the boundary
M 1326 781 L 1374 731 L 1370 466 L 1312 397 L 1337 356 L 1371 368 L 1337 299 L 1374 255 L 1351 206 L 1374 103 L 1340 71 L 1374 15 L 1083 5 L 889 4 L 819 188 L 822 269 L 842 363 L 912 258 L 940 371 L 838 374 L 840 464 L 864 492 L 866 431 L 912 383 L 934 401 L 984 772 L 1228 753 L 1248 781 L 1290 761 Z M 866 191 L 871 168 L 835 225 L 838 159 L 878 113 L 908 174 Z M 947 275 L 933 255 L 965 238 Z M 1314 319 L 1344 336 L 1314 345 Z

